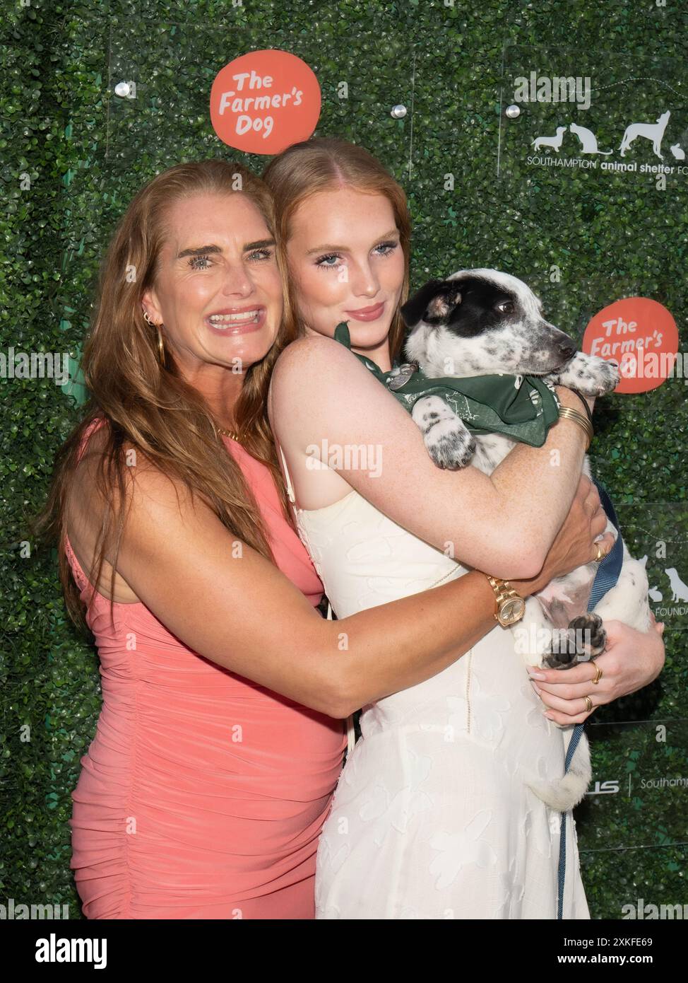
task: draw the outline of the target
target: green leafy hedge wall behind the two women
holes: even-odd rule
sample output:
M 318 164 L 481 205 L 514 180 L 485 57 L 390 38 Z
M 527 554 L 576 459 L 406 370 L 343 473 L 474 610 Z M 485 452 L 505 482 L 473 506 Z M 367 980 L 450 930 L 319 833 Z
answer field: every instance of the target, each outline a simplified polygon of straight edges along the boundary
M 612 301 L 652 297 L 686 347 L 688 174 L 662 187 L 657 175 L 536 166 L 526 154 L 536 136 L 570 122 L 616 148 L 629 122 L 670 109 L 663 152 L 677 163 L 668 146 L 688 151 L 688 15 L 676 0 L 4 4 L 0 351 L 70 352 L 73 379 L 2 378 L 0 903 L 69 904 L 79 918 L 68 820 L 100 709 L 97 656 L 65 617 L 55 552 L 26 546 L 24 519 L 79 418 L 94 277 L 127 203 L 183 160 L 220 156 L 260 171 L 267 158 L 216 138 L 209 90 L 239 54 L 283 48 L 320 82 L 316 134 L 365 145 L 406 189 L 412 288 L 427 274 L 495 266 L 528 280 L 548 317 L 577 337 Z M 590 108 L 522 103 L 507 118 L 514 77 L 531 71 L 589 77 Z M 135 98 L 114 94 L 123 80 L 135 82 Z M 407 107 L 402 119 L 391 115 L 396 104 Z M 658 162 L 643 140 L 626 159 Z M 648 556 L 666 665 L 588 727 L 594 780 L 576 819 L 594 918 L 620 918 L 638 898 L 688 901 L 688 617 L 665 572 L 688 580 L 687 393 L 669 378 L 596 408 L 593 469 L 629 549 Z

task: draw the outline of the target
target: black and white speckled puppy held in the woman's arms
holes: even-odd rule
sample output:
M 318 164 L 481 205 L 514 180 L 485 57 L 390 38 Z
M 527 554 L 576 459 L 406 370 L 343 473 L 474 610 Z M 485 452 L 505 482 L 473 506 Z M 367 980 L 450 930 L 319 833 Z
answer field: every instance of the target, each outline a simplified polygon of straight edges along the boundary
M 401 317 L 408 328 L 406 358 L 432 378 L 541 376 L 550 386 L 565 385 L 590 396 L 611 392 L 619 381 L 614 363 L 576 351 L 571 338 L 543 318 L 542 303 L 530 288 L 496 269 L 462 269 L 446 280 L 431 280 L 401 307 Z M 472 463 L 491 474 L 514 446 L 503 434 L 470 434 L 438 395 L 418 399 L 412 417 L 438 467 L 457 469 Z M 587 456 L 583 473 L 592 477 Z M 615 533 L 610 521 L 607 530 Z M 566 668 L 601 655 L 605 619 L 616 618 L 640 631 L 649 629 L 649 585 L 643 564 L 623 544 L 618 582 L 595 611 L 587 613 L 597 570 L 597 562 L 588 563 L 528 598 L 523 618 L 510 629 L 518 631 L 521 639 L 524 634 L 529 640 L 540 639 L 534 645 L 516 646 L 527 665 Z M 554 646 L 553 627 L 558 632 Z M 561 632 L 569 633 L 570 645 L 561 644 Z M 590 777 L 589 748 L 583 737 L 561 782 L 531 787 L 548 805 L 564 812 L 585 794 Z

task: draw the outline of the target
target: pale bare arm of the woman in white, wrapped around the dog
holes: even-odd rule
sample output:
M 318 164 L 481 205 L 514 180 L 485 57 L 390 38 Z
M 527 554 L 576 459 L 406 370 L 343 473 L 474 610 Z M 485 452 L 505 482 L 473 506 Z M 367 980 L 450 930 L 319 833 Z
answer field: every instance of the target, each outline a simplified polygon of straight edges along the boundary
M 580 409 L 570 390 L 557 393 Z M 490 477 L 470 466 L 436 467 L 410 415 L 332 338 L 299 338 L 285 349 L 272 376 L 270 414 L 291 460 L 323 441 L 379 448 L 379 475 L 343 454 L 337 471 L 345 482 L 413 535 L 437 549 L 452 545 L 466 565 L 504 579 L 540 570 L 583 464 L 585 434 L 561 420 L 542 447 L 517 445 Z

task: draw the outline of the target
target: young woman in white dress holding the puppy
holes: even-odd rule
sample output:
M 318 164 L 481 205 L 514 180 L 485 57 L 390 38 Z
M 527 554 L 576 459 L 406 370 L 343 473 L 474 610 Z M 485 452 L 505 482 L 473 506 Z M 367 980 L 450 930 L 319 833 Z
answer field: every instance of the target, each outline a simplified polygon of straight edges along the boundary
M 286 316 L 306 335 L 278 360 L 269 413 L 299 534 L 337 616 L 471 567 L 533 577 L 578 485 L 582 431 L 557 423 L 543 447 L 518 445 L 491 477 L 436 468 L 410 416 L 332 338 L 345 320 L 356 352 L 383 371 L 397 360 L 403 192 L 362 148 L 332 140 L 291 146 L 264 177 Z M 580 665 L 537 687 L 496 624 L 442 672 L 364 707 L 320 840 L 316 917 L 556 918 L 560 815 L 526 781 L 563 775 L 571 728 L 556 724 L 585 720 L 585 695 L 607 703 L 661 667 L 655 631 L 607 628 L 613 652 L 598 660 L 598 685 Z M 562 917 L 589 918 L 570 812 L 565 822 Z

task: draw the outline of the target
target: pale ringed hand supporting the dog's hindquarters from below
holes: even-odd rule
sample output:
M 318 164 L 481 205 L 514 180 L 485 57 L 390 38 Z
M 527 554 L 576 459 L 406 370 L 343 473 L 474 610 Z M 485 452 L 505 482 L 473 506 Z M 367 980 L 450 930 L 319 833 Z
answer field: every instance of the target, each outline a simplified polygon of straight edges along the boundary
M 636 631 L 622 621 L 605 621 L 607 648 L 592 662 L 570 669 L 529 666 L 536 693 L 548 708 L 545 716 L 555 723 L 583 723 L 596 707 L 627 696 L 657 679 L 664 665 L 664 625 L 655 620 L 648 631 Z M 592 681 L 597 667 L 600 681 Z M 589 696 L 593 710 L 586 708 Z

